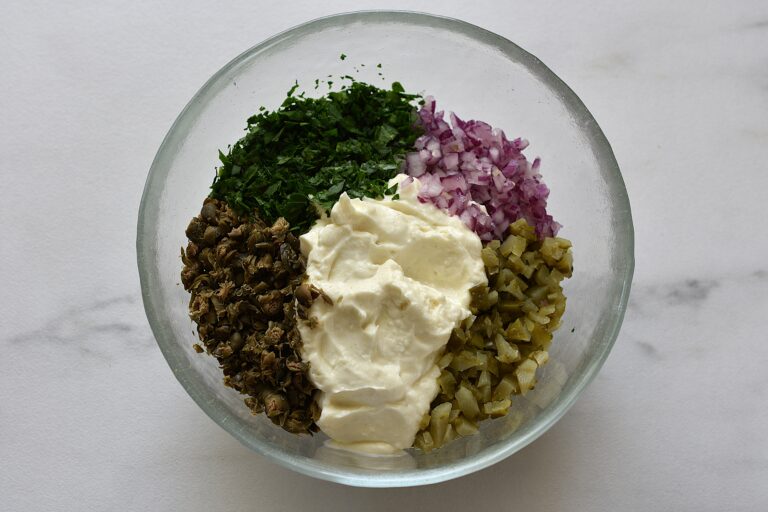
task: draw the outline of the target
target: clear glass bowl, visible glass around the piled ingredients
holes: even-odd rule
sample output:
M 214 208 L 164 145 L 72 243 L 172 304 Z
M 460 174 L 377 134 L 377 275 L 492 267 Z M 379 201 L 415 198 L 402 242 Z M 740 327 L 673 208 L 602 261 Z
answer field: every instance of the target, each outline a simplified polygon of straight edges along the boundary
M 345 53 L 347 58 L 340 59 Z M 378 68 L 377 64 L 382 67 Z M 379 75 L 382 73 L 386 81 Z M 434 95 L 438 107 L 530 140 L 542 158 L 550 210 L 573 241 L 575 273 L 551 361 L 536 389 L 480 433 L 428 454 L 358 456 L 326 437 L 295 436 L 251 415 L 224 387 L 197 338 L 179 284 L 184 230 L 208 193 L 218 150 L 244 134 L 246 119 L 276 108 L 294 81 L 358 80 Z M 510 41 L 468 23 L 411 12 L 357 12 L 311 21 L 254 46 L 224 66 L 179 115 L 149 171 L 137 252 L 149 323 L 176 378 L 216 423 L 257 453 L 300 473 L 349 485 L 398 487 L 471 473 L 517 452 L 550 428 L 594 378 L 619 332 L 634 266 L 629 201 L 611 148 L 562 80 Z M 595 418 L 594 421 L 600 421 Z

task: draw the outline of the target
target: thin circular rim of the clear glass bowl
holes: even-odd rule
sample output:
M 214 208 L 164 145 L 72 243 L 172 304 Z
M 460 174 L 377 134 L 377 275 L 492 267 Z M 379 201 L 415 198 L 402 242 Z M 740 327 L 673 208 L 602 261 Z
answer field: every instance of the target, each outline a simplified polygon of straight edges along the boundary
M 621 260 L 625 264 L 623 267 L 624 272 L 621 276 L 620 300 L 619 304 L 616 305 L 615 315 L 611 319 L 612 325 L 610 325 L 606 331 L 607 336 L 601 340 L 595 357 L 589 360 L 581 373 L 571 376 L 569 379 L 569 386 L 557 399 L 557 403 L 547 410 L 542 411 L 542 413 L 536 417 L 533 428 L 528 430 L 525 435 L 519 437 L 513 436 L 510 439 L 499 443 L 497 449 L 494 451 L 481 451 L 478 454 L 468 456 L 466 459 L 462 459 L 447 467 L 417 469 L 398 473 L 382 472 L 376 475 L 371 475 L 370 473 L 355 473 L 351 468 L 328 469 L 327 467 L 315 463 L 312 459 L 286 454 L 275 449 L 273 446 L 270 446 L 268 443 L 244 435 L 234 424 L 222 422 L 222 418 L 227 416 L 226 410 L 215 402 L 206 401 L 196 391 L 192 382 L 193 379 L 190 379 L 186 375 L 174 372 L 187 393 L 213 421 L 245 446 L 281 466 L 315 478 L 353 486 L 409 487 L 438 483 L 473 473 L 499 462 L 536 440 L 571 408 L 584 388 L 597 375 L 616 341 L 624 318 L 627 301 L 629 299 L 632 275 L 634 272 L 634 229 L 629 198 L 624 186 L 624 181 L 611 146 L 597 122 L 592 117 L 592 114 L 565 82 L 555 75 L 555 73 L 545 66 L 538 58 L 526 52 L 508 39 L 476 25 L 455 18 L 415 11 L 367 10 L 339 13 L 317 18 L 280 32 L 244 51 L 217 71 L 192 97 L 189 103 L 187 103 L 168 130 L 168 133 L 163 139 L 152 162 L 144 186 L 141 205 L 139 207 L 136 252 L 144 309 L 150 327 L 152 328 L 157 344 L 169 366 L 171 369 L 177 368 L 179 363 L 181 363 L 181 360 L 177 358 L 174 352 L 175 347 L 173 342 L 165 338 L 165 333 L 160 328 L 163 318 L 157 313 L 159 308 L 156 308 L 160 299 L 159 295 L 153 291 L 157 283 L 157 276 L 156 269 L 151 264 L 154 256 L 151 240 L 154 236 L 152 231 L 152 220 L 155 212 L 152 207 L 157 204 L 157 200 L 159 199 L 158 190 L 162 188 L 162 183 L 168 174 L 168 169 L 160 165 L 161 155 L 166 151 L 171 150 L 170 141 L 173 138 L 173 135 L 177 132 L 178 127 L 183 125 L 183 119 L 187 116 L 194 115 L 195 105 L 212 90 L 216 89 L 222 75 L 238 66 L 245 59 L 250 58 L 254 54 L 285 39 L 290 39 L 323 27 L 372 19 L 377 21 L 400 21 L 439 26 L 454 32 L 460 32 L 466 36 L 492 45 L 507 55 L 514 56 L 515 59 L 522 62 L 532 73 L 547 82 L 553 90 L 557 91 L 561 100 L 571 109 L 571 111 L 583 121 L 581 126 L 588 132 L 589 139 L 593 142 L 599 153 L 599 158 L 603 161 L 606 168 L 611 171 L 613 176 L 608 183 L 609 193 L 614 196 L 619 205 L 616 214 L 618 217 L 617 221 L 618 224 L 623 227 L 623 229 L 616 233 L 616 245 L 624 251 L 624 254 L 621 255 Z

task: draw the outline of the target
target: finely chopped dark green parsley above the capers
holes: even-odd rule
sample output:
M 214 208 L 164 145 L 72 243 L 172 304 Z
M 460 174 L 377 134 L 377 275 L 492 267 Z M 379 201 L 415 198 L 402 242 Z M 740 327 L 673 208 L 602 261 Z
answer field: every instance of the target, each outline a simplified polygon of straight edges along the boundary
M 303 233 L 343 192 L 394 193 L 387 181 L 420 135 L 420 97 L 398 82 L 380 89 L 353 80 L 320 98 L 295 95 L 297 88 L 277 110 L 250 117 L 246 136 L 219 152 L 211 196 L 238 213 L 255 209 L 267 223 L 284 217 Z

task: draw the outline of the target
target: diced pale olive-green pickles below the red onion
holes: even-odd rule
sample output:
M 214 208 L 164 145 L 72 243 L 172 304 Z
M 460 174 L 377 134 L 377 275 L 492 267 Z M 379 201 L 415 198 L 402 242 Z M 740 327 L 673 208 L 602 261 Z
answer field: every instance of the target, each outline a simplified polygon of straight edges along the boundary
M 514 395 L 536 385 L 565 311 L 561 281 L 573 270 L 571 243 L 536 236 L 520 219 L 482 250 L 488 285 L 471 290 L 472 315 L 453 330 L 438 361 L 440 391 L 414 446 L 428 452 L 504 416 Z

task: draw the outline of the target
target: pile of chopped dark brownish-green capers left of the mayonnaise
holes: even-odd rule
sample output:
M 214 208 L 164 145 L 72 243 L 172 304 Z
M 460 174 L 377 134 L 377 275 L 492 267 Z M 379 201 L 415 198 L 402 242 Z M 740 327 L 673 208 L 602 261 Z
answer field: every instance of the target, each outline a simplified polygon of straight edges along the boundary
M 312 433 L 320 409 L 296 322 L 313 300 L 329 299 L 303 282 L 306 263 L 289 228 L 283 218 L 268 225 L 207 198 L 187 227 L 181 282 L 202 343 L 194 348 L 218 360 L 224 384 L 247 395 L 254 414 Z

